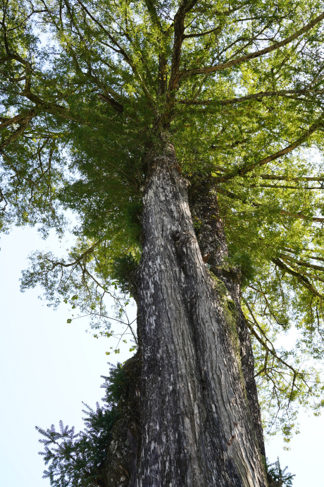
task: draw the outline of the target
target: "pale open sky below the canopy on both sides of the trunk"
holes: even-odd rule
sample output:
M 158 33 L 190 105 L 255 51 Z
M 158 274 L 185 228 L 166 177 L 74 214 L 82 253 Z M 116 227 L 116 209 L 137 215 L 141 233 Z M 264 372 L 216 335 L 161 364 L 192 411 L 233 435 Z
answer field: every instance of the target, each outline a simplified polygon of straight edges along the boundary
M 100 375 L 108 375 L 107 361 L 124 361 L 131 354 L 106 356 L 113 343 L 85 332 L 86 319 L 68 324 L 67 305 L 48 308 L 37 299 L 41 289 L 20 293 L 27 255 L 46 248 L 60 253 L 55 234 L 44 241 L 35 229 L 14 229 L 1 236 L 0 247 L 0 486 L 49 487 L 49 479 L 42 479 L 35 426 L 58 426 L 62 419 L 82 429 L 82 401 L 95 407 L 103 397 Z M 283 450 L 278 435 L 266 444 L 268 459 L 279 457 L 282 467 L 296 474 L 294 487 L 324 487 L 324 415 L 301 413 L 299 419 L 301 433 L 291 450 Z

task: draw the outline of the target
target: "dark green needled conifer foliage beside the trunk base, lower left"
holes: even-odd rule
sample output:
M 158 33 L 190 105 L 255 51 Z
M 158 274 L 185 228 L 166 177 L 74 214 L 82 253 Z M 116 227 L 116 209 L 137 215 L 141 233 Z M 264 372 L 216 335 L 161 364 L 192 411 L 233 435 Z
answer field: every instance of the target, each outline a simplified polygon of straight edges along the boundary
M 44 479 L 49 479 L 54 487 L 96 486 L 99 467 L 106 457 L 106 450 L 111 443 L 111 430 L 120 418 L 118 402 L 127 388 L 127 378 L 120 363 L 110 369 L 110 375 L 104 377 L 101 387 L 106 390 L 104 406 L 96 403 L 96 410 L 85 404 L 83 411 L 87 416 L 85 430 L 75 433 L 60 421 L 60 431 L 54 425 L 46 430 L 36 427 L 44 438 L 39 440 L 44 445 Z

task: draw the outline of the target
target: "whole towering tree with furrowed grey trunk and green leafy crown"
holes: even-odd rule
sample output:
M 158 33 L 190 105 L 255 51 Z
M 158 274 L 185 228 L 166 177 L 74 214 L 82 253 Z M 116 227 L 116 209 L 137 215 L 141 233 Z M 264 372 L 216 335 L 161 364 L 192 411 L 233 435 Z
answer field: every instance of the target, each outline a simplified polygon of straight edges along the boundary
M 288 439 L 297 404 L 323 405 L 303 364 L 323 354 L 323 19 L 320 1 L 2 2 L 2 228 L 80 219 L 23 286 L 94 319 L 112 283 L 137 302 L 140 419 L 106 487 L 266 486 L 256 380 Z M 293 325 L 298 353 L 276 349 Z

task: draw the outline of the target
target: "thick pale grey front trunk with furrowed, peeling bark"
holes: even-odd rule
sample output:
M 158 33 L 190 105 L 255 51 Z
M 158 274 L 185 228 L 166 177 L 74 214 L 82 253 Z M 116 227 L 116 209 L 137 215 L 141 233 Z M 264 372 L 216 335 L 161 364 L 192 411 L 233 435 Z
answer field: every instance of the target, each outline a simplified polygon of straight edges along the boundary
M 266 486 L 237 303 L 201 258 L 170 145 L 148 157 L 143 202 L 137 486 Z

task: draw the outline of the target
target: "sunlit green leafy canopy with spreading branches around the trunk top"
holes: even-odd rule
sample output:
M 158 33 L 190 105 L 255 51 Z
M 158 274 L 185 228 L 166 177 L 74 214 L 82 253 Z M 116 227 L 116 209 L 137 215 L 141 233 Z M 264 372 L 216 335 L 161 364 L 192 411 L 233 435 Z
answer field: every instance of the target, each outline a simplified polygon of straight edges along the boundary
M 23 289 L 111 335 L 104 296 L 132 294 L 144 155 L 163 134 L 218 194 L 264 419 L 287 440 L 299 404 L 324 405 L 307 364 L 324 339 L 323 20 L 306 0 L 1 1 L 1 229 L 78 221 L 68 257 L 35 253 Z

